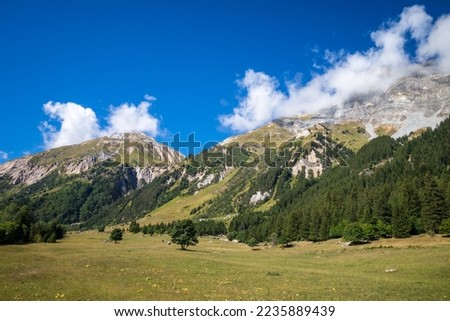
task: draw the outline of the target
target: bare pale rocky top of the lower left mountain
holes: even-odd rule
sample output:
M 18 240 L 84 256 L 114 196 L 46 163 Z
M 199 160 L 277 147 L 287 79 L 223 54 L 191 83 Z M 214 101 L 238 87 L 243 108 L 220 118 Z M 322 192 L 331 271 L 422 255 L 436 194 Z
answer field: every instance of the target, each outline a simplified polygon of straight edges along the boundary
M 148 183 L 183 159 L 182 154 L 145 134 L 114 134 L 0 164 L 0 176 L 8 177 L 13 185 L 31 185 L 55 171 L 79 175 L 100 163 L 110 163 L 132 166 L 137 180 Z

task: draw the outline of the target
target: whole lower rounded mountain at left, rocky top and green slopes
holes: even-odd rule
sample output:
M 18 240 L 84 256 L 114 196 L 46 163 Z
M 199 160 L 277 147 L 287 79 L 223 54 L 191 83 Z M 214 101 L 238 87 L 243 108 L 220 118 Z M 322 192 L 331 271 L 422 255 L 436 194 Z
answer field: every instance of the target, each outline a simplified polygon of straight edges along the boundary
M 0 165 L 0 221 L 2 209 L 14 212 L 25 205 L 36 221 L 104 225 L 112 220 L 108 206 L 151 183 L 160 184 L 156 181 L 173 174 L 183 159 L 153 138 L 131 133 L 7 162 Z

